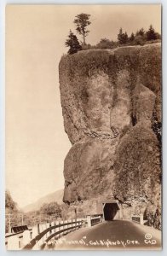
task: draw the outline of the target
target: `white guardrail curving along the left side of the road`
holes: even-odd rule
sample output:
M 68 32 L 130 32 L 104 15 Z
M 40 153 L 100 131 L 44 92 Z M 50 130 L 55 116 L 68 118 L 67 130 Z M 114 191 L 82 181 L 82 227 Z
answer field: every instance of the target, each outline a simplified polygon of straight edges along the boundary
M 85 223 L 85 219 L 78 218 L 66 221 L 56 221 L 47 224 L 37 224 L 30 230 L 8 234 L 5 236 L 7 250 L 34 249 L 44 247 L 51 238 L 59 239 L 67 233 L 77 230 Z

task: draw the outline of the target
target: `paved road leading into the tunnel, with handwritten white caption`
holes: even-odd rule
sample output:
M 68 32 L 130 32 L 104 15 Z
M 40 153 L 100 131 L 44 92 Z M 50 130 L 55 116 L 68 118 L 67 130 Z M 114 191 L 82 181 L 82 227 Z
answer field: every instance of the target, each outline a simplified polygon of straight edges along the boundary
M 76 230 L 46 249 L 160 249 L 160 233 L 126 220 L 106 221 Z

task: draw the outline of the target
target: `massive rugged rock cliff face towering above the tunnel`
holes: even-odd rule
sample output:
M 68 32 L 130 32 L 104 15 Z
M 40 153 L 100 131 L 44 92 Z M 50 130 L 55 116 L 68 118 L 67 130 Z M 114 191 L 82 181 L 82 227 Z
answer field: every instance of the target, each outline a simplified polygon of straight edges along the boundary
M 60 97 L 72 143 L 64 201 L 114 196 L 160 206 L 161 46 L 85 50 L 60 61 Z

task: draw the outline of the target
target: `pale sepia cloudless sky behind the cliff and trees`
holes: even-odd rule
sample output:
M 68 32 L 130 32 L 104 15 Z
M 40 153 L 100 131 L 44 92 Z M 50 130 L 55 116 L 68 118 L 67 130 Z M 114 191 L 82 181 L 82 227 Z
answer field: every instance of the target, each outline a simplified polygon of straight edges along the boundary
M 87 43 L 120 27 L 161 32 L 160 5 L 9 5 L 6 8 L 6 189 L 19 207 L 64 186 L 71 143 L 60 106 L 60 57 L 76 15 L 91 15 Z M 79 40 L 82 38 L 78 35 Z

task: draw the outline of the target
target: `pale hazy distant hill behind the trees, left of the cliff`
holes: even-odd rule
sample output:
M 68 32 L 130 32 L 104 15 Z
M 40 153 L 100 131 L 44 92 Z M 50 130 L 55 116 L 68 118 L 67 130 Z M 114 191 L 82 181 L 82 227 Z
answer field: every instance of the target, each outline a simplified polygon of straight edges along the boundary
M 58 204 L 62 204 L 64 189 L 60 189 L 55 191 L 54 193 L 50 193 L 49 195 L 45 195 L 42 198 L 38 199 L 34 203 L 27 205 L 22 208 L 24 212 L 37 211 L 40 207 L 43 206 L 44 203 L 49 203 L 52 201 L 56 201 Z

